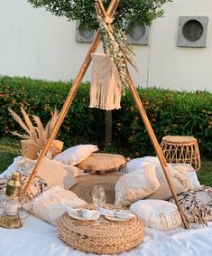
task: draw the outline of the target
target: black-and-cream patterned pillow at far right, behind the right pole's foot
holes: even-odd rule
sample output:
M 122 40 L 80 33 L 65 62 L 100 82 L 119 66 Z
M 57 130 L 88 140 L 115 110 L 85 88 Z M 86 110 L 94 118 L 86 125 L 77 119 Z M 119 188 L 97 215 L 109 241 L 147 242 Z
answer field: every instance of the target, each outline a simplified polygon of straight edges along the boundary
M 212 188 L 201 185 L 178 195 L 189 222 L 206 223 L 212 221 Z M 171 198 L 169 202 L 174 203 Z

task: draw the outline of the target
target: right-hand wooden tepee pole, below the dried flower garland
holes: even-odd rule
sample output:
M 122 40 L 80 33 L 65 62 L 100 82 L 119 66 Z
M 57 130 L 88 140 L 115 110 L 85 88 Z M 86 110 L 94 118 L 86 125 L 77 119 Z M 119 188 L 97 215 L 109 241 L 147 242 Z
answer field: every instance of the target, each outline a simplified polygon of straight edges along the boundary
M 127 64 L 126 64 L 126 67 L 127 67 Z M 151 138 L 151 141 L 152 141 L 152 145 L 154 147 L 154 150 L 160 160 L 160 163 L 161 163 L 161 167 L 162 167 L 162 170 L 163 170 L 163 173 L 166 177 L 166 180 L 167 180 L 167 183 L 171 189 L 171 194 L 173 195 L 173 198 L 174 198 L 174 201 L 178 207 L 178 210 L 180 212 L 180 215 L 181 215 L 181 219 L 182 219 L 182 222 L 185 226 L 186 229 L 189 228 L 189 225 L 187 223 L 187 220 L 186 220 L 186 217 L 184 215 L 184 213 L 182 212 L 182 209 L 181 209 L 181 206 L 180 206 L 180 203 L 179 203 L 179 200 L 178 200 L 178 197 L 177 197 L 177 194 L 175 192 L 175 189 L 172 185 L 172 182 L 171 182 L 171 176 L 170 174 L 168 173 L 167 171 L 167 163 L 166 163 L 166 160 L 165 160 L 165 157 L 163 156 L 162 154 L 162 151 L 161 151 L 161 147 L 158 143 L 158 140 L 153 132 L 153 129 L 152 129 L 152 126 L 151 126 L 151 123 L 146 115 L 146 111 L 145 109 L 143 108 L 143 103 L 142 103 L 142 100 L 140 99 L 139 97 L 139 94 L 138 94 L 138 91 L 136 90 L 135 86 L 134 86 L 134 81 L 130 75 L 130 72 L 128 70 L 128 67 L 127 67 L 127 72 L 128 72 L 128 77 L 129 77 L 129 80 L 130 80 L 130 90 L 133 94 L 133 97 L 134 97 L 134 101 L 135 103 L 137 104 L 137 108 L 139 110 L 139 113 L 143 119 L 143 123 L 144 123 L 144 126 L 149 134 L 149 137 Z

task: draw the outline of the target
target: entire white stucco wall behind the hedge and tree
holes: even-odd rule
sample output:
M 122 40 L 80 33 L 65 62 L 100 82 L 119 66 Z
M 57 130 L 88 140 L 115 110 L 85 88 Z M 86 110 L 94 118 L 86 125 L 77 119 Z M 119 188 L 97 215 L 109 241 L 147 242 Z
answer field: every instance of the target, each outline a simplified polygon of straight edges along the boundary
M 212 19 L 212 1 L 173 0 L 165 17 L 152 24 L 150 45 L 134 46 L 142 77 L 137 84 L 176 90 L 212 90 L 212 27 L 207 48 L 177 47 L 180 15 Z M 74 79 L 89 48 L 75 42 L 75 23 L 27 0 L 0 0 L 0 74 L 51 81 Z M 90 71 L 84 81 L 90 80 Z

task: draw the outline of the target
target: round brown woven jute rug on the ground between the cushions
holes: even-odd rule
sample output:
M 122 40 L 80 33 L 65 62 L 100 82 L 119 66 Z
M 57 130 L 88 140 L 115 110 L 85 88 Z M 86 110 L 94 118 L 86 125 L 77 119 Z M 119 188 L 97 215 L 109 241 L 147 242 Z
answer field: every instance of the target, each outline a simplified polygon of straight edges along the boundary
M 78 183 L 70 188 L 79 198 L 92 204 L 92 191 L 95 185 L 102 185 L 106 192 L 106 204 L 115 203 L 115 183 L 121 173 L 108 173 L 104 175 L 81 175 L 76 179 Z

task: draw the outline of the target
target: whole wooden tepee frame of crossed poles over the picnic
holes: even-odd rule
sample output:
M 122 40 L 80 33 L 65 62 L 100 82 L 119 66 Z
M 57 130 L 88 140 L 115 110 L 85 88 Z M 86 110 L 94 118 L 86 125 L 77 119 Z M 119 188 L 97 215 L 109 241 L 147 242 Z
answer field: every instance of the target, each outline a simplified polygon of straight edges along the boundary
M 102 2 L 101 0 L 97 0 L 96 1 L 96 5 L 97 5 L 97 8 L 98 10 L 100 10 L 101 14 L 104 16 L 104 17 L 109 17 L 109 18 L 113 18 L 114 14 L 115 14 L 115 10 L 117 8 L 117 6 L 119 5 L 119 0 L 112 0 L 107 11 L 105 11 L 105 8 L 104 6 L 102 5 Z M 52 132 L 51 132 L 51 136 L 49 138 L 49 140 L 47 141 L 45 147 L 43 148 L 42 152 L 41 152 L 41 156 L 39 157 L 37 163 L 36 163 L 36 166 L 34 167 L 33 171 L 32 171 L 32 175 L 30 176 L 29 178 L 29 181 L 27 183 L 27 185 L 25 186 L 25 190 L 24 190 L 24 193 L 27 194 L 27 192 L 29 191 L 30 189 L 30 186 L 32 185 L 32 181 L 35 177 L 35 175 L 37 174 L 38 170 L 39 170 L 39 167 L 41 166 L 41 162 L 44 158 L 44 156 L 46 156 L 48 150 L 50 149 L 51 147 L 51 143 L 52 141 L 54 140 L 54 138 L 56 137 L 58 131 L 59 131 L 59 128 L 63 122 L 63 120 L 65 119 L 65 116 L 69 110 L 69 107 L 72 103 L 72 100 L 74 99 L 75 97 L 75 94 L 78 90 L 78 87 L 80 85 L 80 82 L 82 81 L 86 71 L 88 70 L 88 66 L 91 62 L 91 53 L 92 52 L 96 52 L 97 50 L 97 47 L 99 45 L 99 43 L 101 42 L 101 34 L 100 34 L 100 30 L 98 29 L 97 31 L 97 35 L 93 41 L 93 43 L 91 44 L 90 46 L 90 49 L 88 51 L 88 54 L 84 60 L 84 62 L 82 63 L 82 66 L 80 68 L 80 70 L 78 71 L 78 75 L 77 75 L 77 78 L 76 80 L 74 81 L 71 89 L 69 90 L 69 95 L 66 99 L 66 101 L 64 102 L 64 105 L 62 107 L 62 109 L 60 110 L 60 116 L 59 116 L 59 119 L 58 121 L 56 122 Z M 151 141 L 152 141 L 152 145 L 154 147 L 154 150 L 160 160 L 160 163 L 161 163 L 161 167 L 162 167 L 162 170 L 163 170 L 163 173 L 166 177 L 166 180 L 168 182 L 168 185 L 171 189 L 171 194 L 173 195 L 173 198 L 174 198 L 174 201 L 175 203 L 177 204 L 177 207 L 178 207 L 178 210 L 180 212 L 180 216 L 181 216 L 181 219 L 182 219 L 182 222 L 184 224 L 184 227 L 186 229 L 189 228 L 188 226 L 188 223 L 187 223 L 187 220 L 185 218 L 185 215 L 184 213 L 182 212 L 182 209 L 181 209 L 181 206 L 180 206 L 180 203 L 179 203 L 179 200 L 178 200 L 178 197 L 177 197 L 177 194 L 175 193 L 175 189 L 172 185 L 172 182 L 171 182 L 171 177 L 167 171 L 167 163 L 166 163 L 166 160 L 165 160 L 165 157 L 163 156 L 162 154 L 162 151 L 161 151 L 161 147 L 158 143 L 158 140 L 157 138 L 155 137 L 155 134 L 153 132 L 153 129 L 152 129 L 152 126 L 151 126 L 151 123 L 146 115 L 146 112 L 145 112 L 145 109 L 143 108 L 143 103 L 142 101 L 140 100 L 140 97 L 138 95 L 138 92 L 134 86 L 134 81 L 130 75 L 130 72 L 127 68 L 127 72 L 128 72 L 128 76 L 129 76 L 129 80 L 130 80 L 130 90 L 133 94 L 133 97 L 134 97 L 134 101 L 135 103 L 137 104 L 137 108 L 140 112 L 140 115 L 143 119 L 143 123 L 144 123 L 144 126 L 149 134 L 149 137 L 151 138 Z

